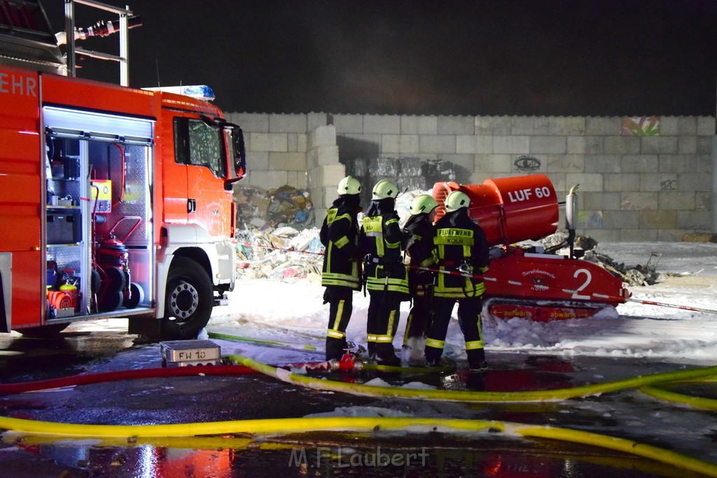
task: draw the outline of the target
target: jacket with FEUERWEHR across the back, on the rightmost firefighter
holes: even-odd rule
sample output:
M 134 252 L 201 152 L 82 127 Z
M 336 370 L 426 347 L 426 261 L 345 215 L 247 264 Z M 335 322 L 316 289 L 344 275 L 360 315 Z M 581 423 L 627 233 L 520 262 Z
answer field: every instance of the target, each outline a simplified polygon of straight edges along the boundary
M 488 270 L 488 244 L 483 229 L 468 216 L 466 208 L 445 214 L 435 225 L 433 254 L 441 271 L 434 288 L 436 297 L 480 297 L 485 292 L 480 276 Z M 457 275 L 465 274 L 465 275 Z

